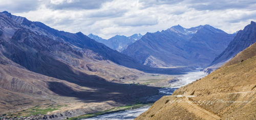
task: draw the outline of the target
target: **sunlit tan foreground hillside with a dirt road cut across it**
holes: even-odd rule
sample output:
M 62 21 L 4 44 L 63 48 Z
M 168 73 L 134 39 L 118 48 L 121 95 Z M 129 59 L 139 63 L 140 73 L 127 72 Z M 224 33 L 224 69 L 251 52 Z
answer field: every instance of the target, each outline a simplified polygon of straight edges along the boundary
M 206 77 L 164 96 L 136 119 L 254 119 L 256 43 Z

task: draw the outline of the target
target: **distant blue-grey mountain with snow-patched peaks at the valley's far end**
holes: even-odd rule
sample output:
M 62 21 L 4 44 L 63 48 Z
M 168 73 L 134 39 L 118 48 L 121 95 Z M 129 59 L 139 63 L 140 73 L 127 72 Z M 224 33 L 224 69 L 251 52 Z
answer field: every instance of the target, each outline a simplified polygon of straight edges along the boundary
M 210 25 L 184 28 L 180 25 L 166 31 L 147 33 L 122 53 L 151 67 L 206 66 L 233 39 Z

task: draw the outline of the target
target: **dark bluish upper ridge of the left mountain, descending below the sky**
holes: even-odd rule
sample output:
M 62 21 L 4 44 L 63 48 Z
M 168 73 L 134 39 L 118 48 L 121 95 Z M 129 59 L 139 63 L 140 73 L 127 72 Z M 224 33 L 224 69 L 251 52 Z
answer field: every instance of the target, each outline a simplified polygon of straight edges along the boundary
M 94 57 L 98 57 L 98 59 L 108 59 L 116 64 L 121 66 L 130 67 L 130 68 L 140 68 L 143 66 L 134 61 L 133 58 L 121 54 L 118 51 L 115 51 L 104 44 L 98 43 L 93 39 L 90 39 L 86 35 L 83 35 L 81 32 L 76 34 L 58 31 L 54 28 L 51 28 L 44 23 L 41 22 L 32 22 L 24 17 L 14 16 L 8 12 L 3 12 L 4 15 L 9 17 L 12 21 L 23 25 L 23 27 L 30 29 L 30 31 L 35 34 L 46 36 L 47 38 L 56 40 L 58 42 L 71 44 L 71 46 L 75 46 L 74 49 L 82 52 L 86 52 L 88 54 L 95 54 Z

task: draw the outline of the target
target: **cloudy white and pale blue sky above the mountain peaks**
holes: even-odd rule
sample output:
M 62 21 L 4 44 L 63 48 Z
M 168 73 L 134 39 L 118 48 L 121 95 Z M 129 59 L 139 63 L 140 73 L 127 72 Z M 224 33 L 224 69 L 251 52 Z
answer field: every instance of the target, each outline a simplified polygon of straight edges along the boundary
M 0 11 L 109 39 L 209 24 L 228 34 L 256 21 L 254 0 L 0 0 Z

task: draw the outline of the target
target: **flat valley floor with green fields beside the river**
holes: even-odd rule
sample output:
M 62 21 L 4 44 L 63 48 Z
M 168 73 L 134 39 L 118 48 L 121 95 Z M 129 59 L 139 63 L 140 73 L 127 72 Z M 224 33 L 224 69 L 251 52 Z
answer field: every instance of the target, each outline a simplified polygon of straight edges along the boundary
M 181 77 L 181 75 L 164 75 L 164 74 L 145 74 L 144 76 L 138 78 L 137 80 L 122 80 L 122 84 L 124 84 L 127 89 L 138 89 L 138 91 L 141 91 L 143 96 L 146 97 L 137 97 L 135 99 L 127 98 L 127 100 L 123 100 L 123 98 L 126 98 L 125 95 L 122 95 L 118 92 L 118 89 L 116 91 L 113 91 L 113 93 L 106 92 L 101 94 L 94 94 L 90 95 L 88 98 L 77 98 L 77 97 L 65 97 L 65 96 L 57 96 L 57 95 L 37 95 L 37 94 L 27 94 L 27 93 L 18 93 L 22 94 L 24 96 L 30 97 L 34 100 L 44 101 L 41 104 L 36 105 L 30 105 L 30 106 L 24 106 L 17 109 L 9 109 L 8 111 L 2 111 L 3 113 L 7 113 L 8 118 L 12 118 L 14 116 L 17 117 L 49 117 L 49 115 L 53 114 L 55 115 L 55 119 L 63 119 L 66 117 L 75 117 L 82 115 L 84 116 L 95 116 L 95 114 L 102 114 L 102 112 L 110 112 L 110 111 L 120 111 L 124 110 L 122 106 L 133 106 L 133 108 L 136 108 L 138 106 L 143 107 L 147 106 L 148 103 L 152 103 L 161 96 L 155 96 L 155 99 L 152 99 L 151 96 L 157 95 L 159 88 L 168 85 L 169 83 L 179 81 L 177 79 L 178 77 Z M 135 87 L 136 86 L 136 87 Z M 156 91 L 151 89 L 146 90 L 146 87 L 139 87 L 139 86 L 149 86 L 157 88 Z M 117 87 L 118 88 L 118 87 Z M 140 89 L 140 90 L 139 90 Z M 145 92 L 145 91 L 151 91 L 151 92 Z M 154 93 L 155 92 L 155 93 Z M 138 95 L 137 95 L 138 96 Z M 104 99 L 106 98 L 106 99 Z M 112 99 L 110 99 L 112 98 Z M 122 98 L 118 100 L 119 98 Z M 152 99 L 152 100 L 150 100 Z M 119 101 L 119 102 L 118 102 Z M 126 108 L 125 108 L 126 109 Z M 58 116 L 58 113 L 63 114 L 64 116 Z M 66 113 L 66 114 L 65 114 Z M 44 114 L 48 114 L 44 115 Z M 84 115 L 87 114 L 87 115 Z M 32 115 L 32 116 L 31 116 Z M 80 118 L 80 117 L 76 117 Z

